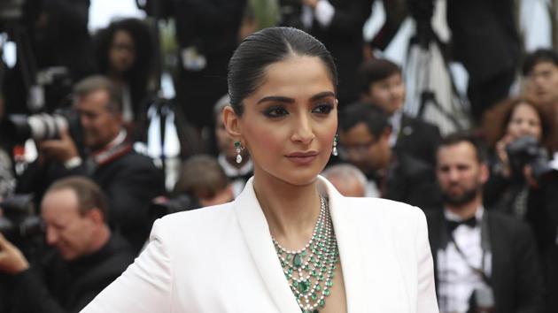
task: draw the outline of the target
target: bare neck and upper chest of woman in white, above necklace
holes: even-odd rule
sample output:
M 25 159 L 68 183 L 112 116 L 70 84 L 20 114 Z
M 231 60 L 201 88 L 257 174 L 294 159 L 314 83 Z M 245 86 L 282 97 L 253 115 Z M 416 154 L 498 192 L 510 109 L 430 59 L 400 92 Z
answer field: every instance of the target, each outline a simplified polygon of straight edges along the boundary
M 270 233 L 287 249 L 299 249 L 312 237 L 320 214 L 317 181 L 294 186 L 279 179 L 259 179 L 254 173 L 254 190 L 267 219 Z

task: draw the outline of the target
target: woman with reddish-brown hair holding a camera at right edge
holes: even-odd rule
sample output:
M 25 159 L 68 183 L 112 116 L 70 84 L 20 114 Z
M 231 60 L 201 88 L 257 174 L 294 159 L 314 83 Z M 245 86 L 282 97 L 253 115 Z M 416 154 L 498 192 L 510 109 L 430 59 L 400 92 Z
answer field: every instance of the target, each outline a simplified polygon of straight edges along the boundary
M 546 284 L 546 312 L 558 301 L 558 172 L 549 165 L 546 142 L 553 134 L 540 106 L 524 100 L 505 104 L 500 141 L 493 151 L 485 204 L 531 225 Z

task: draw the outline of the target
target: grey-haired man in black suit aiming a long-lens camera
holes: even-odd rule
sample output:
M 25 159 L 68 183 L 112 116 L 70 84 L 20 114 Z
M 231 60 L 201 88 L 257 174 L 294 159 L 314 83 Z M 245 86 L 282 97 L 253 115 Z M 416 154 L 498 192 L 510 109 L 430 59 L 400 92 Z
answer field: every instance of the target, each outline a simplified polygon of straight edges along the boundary
M 122 128 L 121 96 L 111 80 L 91 76 L 74 87 L 74 108 L 81 121 L 81 157 L 74 139 L 63 130 L 60 139 L 38 142 L 39 157 L 19 179 L 16 191 L 43 190 L 68 175 L 94 179 L 109 203 L 109 224 L 114 226 L 136 252 L 149 235 L 147 214 L 151 199 L 165 193 L 163 173 L 148 156 L 136 152 Z

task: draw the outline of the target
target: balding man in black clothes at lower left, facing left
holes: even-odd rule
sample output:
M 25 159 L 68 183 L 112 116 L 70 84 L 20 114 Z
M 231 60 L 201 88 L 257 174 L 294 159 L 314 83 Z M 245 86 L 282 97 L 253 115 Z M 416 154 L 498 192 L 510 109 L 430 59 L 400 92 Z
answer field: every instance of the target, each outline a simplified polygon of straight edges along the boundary
M 113 279 L 133 253 L 106 225 L 101 189 L 89 179 L 58 180 L 45 194 L 42 215 L 46 242 L 55 249 L 29 264 L 19 248 L 0 234 L 2 284 L 12 312 L 78 312 Z

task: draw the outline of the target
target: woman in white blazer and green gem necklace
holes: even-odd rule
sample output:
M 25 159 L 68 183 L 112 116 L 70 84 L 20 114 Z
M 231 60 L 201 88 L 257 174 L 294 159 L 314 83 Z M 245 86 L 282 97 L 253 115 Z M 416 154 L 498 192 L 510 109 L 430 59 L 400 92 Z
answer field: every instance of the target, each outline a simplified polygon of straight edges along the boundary
M 336 73 L 300 30 L 248 36 L 223 118 L 253 178 L 234 202 L 156 222 L 83 311 L 438 312 L 422 211 L 345 198 L 318 176 L 336 150 Z

